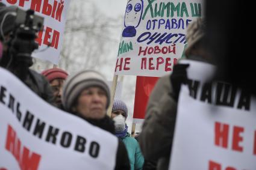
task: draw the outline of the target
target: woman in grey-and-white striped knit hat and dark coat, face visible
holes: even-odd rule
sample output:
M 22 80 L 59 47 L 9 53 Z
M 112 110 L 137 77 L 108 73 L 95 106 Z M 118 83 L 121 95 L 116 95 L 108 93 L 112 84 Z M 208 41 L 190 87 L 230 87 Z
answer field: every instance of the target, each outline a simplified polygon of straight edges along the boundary
M 97 71 L 84 70 L 68 77 L 64 82 L 61 101 L 67 112 L 114 134 L 114 123 L 107 116 L 110 89 L 105 77 Z M 130 169 L 125 145 L 120 140 L 115 169 Z

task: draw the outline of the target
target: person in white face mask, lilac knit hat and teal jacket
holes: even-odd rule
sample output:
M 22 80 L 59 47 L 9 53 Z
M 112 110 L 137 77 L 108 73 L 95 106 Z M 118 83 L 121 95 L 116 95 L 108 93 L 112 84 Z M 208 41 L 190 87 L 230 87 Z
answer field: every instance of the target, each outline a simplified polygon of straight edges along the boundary
M 111 118 L 114 120 L 116 136 L 125 144 L 128 151 L 131 169 L 142 169 L 144 158 L 140 151 L 138 142 L 136 139 L 130 137 L 130 133 L 127 132 L 128 126 L 125 124 L 127 115 L 128 109 L 125 103 L 122 100 L 114 100 Z

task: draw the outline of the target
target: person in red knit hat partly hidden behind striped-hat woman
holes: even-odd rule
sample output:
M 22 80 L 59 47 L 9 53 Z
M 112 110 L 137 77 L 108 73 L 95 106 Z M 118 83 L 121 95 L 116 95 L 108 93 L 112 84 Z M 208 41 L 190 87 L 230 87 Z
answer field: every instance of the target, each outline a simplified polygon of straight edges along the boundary
M 63 109 L 63 106 L 61 104 L 61 96 L 63 83 L 68 76 L 67 72 L 61 70 L 60 68 L 51 68 L 43 71 L 42 75 L 46 77 L 46 79 L 51 85 L 52 92 L 54 94 L 55 105 L 58 108 Z

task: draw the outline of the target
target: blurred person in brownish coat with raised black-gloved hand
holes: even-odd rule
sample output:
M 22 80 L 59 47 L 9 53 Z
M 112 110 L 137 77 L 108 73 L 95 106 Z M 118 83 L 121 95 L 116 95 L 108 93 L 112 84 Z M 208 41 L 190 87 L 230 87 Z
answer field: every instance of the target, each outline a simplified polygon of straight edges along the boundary
M 187 28 L 186 58 L 213 62 L 202 40 L 204 20 L 198 18 Z M 187 80 L 188 64 L 176 64 L 170 76 L 161 77 L 149 97 L 139 143 L 145 160 L 157 161 L 157 169 L 168 169 L 176 121 L 178 96 Z

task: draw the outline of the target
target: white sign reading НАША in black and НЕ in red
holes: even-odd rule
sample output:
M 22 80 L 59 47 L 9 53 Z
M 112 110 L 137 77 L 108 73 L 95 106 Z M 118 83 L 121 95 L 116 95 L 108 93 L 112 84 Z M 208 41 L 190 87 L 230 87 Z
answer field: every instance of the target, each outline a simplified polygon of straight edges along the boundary
M 255 97 L 207 82 L 213 65 L 184 62 L 190 81 L 181 88 L 169 169 L 256 169 Z

